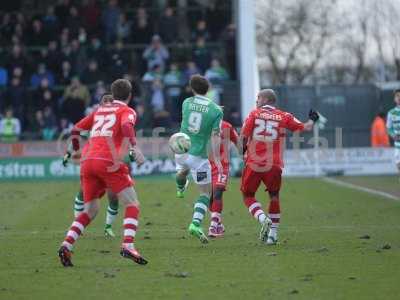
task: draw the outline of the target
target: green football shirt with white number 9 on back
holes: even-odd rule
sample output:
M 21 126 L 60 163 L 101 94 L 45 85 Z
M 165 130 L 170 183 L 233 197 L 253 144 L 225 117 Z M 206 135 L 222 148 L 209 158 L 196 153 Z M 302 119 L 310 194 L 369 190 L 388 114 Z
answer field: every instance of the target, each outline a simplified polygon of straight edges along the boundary
M 182 105 L 181 132 L 191 140 L 189 154 L 208 158 L 208 144 L 213 131 L 220 131 L 222 109 L 207 97 L 196 95 Z

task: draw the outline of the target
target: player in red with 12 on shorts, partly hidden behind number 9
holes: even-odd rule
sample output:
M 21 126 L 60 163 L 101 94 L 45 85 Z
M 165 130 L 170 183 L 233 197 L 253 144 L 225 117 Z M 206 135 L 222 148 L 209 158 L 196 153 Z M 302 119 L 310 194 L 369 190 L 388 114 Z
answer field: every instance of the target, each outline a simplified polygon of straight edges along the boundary
M 229 179 L 229 146 L 231 142 L 237 147 L 238 145 L 238 134 L 232 125 L 226 121 L 221 123 L 221 147 L 220 147 L 220 158 L 222 163 L 223 172 L 219 173 L 218 168 L 215 165 L 212 157 L 210 157 L 211 163 L 211 174 L 212 174 L 212 201 L 210 205 L 211 212 L 211 224 L 208 229 L 209 237 L 222 237 L 225 232 L 225 227 L 222 224 L 222 195 L 226 190 L 226 185 Z

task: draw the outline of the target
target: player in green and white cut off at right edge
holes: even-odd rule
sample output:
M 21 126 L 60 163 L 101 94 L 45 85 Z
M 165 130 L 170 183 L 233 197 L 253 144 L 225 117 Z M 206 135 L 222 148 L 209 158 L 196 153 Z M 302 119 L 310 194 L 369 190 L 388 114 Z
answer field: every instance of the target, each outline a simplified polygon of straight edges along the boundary
M 400 90 L 394 91 L 394 103 L 396 106 L 387 114 L 386 127 L 394 140 L 394 159 L 400 172 Z

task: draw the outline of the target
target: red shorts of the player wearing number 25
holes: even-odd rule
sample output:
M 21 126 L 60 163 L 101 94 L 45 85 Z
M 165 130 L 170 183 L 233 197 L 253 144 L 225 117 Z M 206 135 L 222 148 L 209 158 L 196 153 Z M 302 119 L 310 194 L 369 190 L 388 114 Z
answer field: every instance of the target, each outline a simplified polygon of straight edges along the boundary
M 282 169 L 278 166 L 273 166 L 266 172 L 255 172 L 246 165 L 243 169 L 240 190 L 244 194 L 255 194 L 261 182 L 264 183 L 269 192 L 279 192 L 282 182 Z

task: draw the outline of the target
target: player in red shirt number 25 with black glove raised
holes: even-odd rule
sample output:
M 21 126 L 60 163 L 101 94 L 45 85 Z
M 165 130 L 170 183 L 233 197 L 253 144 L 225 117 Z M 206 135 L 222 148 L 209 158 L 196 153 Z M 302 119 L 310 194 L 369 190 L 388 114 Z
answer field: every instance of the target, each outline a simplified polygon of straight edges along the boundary
M 274 107 L 276 99 L 273 90 L 261 90 L 257 95 L 257 107 L 248 115 L 240 133 L 245 153 L 241 183 L 243 200 L 249 212 L 260 222 L 260 239 L 268 245 L 274 245 L 278 240 L 279 191 L 283 168 L 282 153 L 285 129 L 309 131 L 319 119 L 318 113 L 310 110 L 310 119 L 306 123 L 302 123 L 292 114 Z M 254 197 L 261 182 L 264 183 L 271 200 L 268 217 Z

